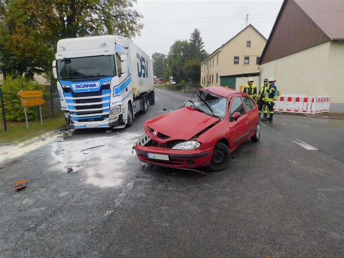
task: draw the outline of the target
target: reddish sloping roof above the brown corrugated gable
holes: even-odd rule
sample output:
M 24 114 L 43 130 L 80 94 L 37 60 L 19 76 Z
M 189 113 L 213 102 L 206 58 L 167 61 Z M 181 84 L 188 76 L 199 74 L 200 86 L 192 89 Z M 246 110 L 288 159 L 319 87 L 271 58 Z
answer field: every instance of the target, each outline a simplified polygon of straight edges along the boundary
M 344 40 L 344 0 L 294 0 L 331 40 Z

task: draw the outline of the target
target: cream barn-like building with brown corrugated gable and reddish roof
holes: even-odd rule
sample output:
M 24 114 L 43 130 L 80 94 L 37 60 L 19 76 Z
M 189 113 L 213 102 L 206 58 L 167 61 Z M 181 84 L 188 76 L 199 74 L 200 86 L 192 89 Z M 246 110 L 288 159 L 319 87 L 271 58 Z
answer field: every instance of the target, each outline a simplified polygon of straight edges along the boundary
M 330 96 L 344 112 L 343 0 L 284 0 L 260 63 L 281 94 Z

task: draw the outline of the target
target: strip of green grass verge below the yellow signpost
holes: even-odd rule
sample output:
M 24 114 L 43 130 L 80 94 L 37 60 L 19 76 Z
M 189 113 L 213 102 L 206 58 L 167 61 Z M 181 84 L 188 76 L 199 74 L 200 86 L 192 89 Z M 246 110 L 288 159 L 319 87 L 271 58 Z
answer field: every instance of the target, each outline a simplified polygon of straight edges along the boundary
M 54 117 L 43 118 L 43 126 L 40 122 L 29 121 L 29 129 L 26 128 L 26 122 L 7 121 L 7 131 L 4 131 L 2 118 L 0 121 L 0 146 L 16 145 L 30 140 L 47 132 L 63 129 L 66 127 L 63 114 Z

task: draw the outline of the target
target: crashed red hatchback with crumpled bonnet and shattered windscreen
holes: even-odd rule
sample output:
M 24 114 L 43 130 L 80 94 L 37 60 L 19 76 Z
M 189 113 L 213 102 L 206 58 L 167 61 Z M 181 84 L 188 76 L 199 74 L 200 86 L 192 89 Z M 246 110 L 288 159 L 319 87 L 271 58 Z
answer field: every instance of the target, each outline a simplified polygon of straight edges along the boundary
M 225 169 L 231 152 L 249 138 L 259 141 L 255 101 L 220 86 L 201 88 L 198 102 L 186 101 L 171 113 L 147 120 L 135 144 L 140 161 L 157 166 Z

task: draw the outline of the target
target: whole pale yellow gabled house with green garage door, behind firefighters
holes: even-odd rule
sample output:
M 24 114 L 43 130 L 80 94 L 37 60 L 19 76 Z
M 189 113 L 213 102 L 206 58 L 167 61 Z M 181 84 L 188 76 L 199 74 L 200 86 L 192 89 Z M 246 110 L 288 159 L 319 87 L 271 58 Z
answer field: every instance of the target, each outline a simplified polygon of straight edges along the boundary
M 266 38 L 250 24 L 201 63 L 201 85 L 239 90 L 249 77 L 258 84 L 258 63 L 265 44 Z

